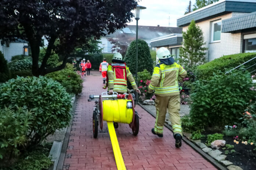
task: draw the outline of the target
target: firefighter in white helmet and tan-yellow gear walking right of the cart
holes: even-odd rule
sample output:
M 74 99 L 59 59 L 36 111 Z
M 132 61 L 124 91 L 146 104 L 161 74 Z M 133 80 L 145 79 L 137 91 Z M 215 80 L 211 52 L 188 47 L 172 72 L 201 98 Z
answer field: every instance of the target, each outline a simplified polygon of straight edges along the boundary
M 156 95 L 156 123 L 152 133 L 163 137 L 164 121 L 168 109 L 169 120 L 173 127 L 175 147 L 181 147 L 182 128 L 179 116 L 180 96 L 178 79 L 186 76 L 186 71 L 174 62 L 170 51 L 161 47 L 156 54 L 159 64 L 154 67 L 148 92 Z

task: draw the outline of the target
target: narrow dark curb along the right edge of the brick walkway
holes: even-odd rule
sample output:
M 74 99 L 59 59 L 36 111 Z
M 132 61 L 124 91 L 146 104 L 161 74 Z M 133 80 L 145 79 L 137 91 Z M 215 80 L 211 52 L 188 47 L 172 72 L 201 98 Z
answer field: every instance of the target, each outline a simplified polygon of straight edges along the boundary
M 150 115 L 152 115 L 154 118 L 156 118 L 153 114 L 151 114 L 147 108 L 145 108 L 141 103 L 138 103 L 139 106 L 141 106 L 145 111 L 147 111 Z M 173 128 L 168 125 L 167 123 L 164 123 L 164 126 L 166 126 L 169 130 L 171 130 L 173 132 Z M 193 144 L 191 141 L 189 141 L 186 136 L 182 138 L 182 140 L 188 144 L 191 148 L 193 148 L 196 152 L 198 152 L 201 156 L 203 156 L 203 158 L 205 158 L 206 160 L 208 160 L 214 167 L 216 167 L 219 170 L 227 170 L 226 167 L 222 166 L 220 163 L 218 163 L 216 160 L 214 160 L 213 158 L 211 158 L 211 156 L 209 156 L 208 154 L 206 154 L 205 152 L 203 152 L 200 148 L 198 148 L 195 144 Z

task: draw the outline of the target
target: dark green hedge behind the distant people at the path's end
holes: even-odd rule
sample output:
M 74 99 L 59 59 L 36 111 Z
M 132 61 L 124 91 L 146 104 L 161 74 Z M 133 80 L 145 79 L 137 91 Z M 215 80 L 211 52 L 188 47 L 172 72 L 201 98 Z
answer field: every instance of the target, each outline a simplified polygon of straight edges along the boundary
M 104 57 L 107 59 L 108 63 L 111 63 L 111 60 L 113 58 L 114 53 L 107 53 L 104 54 Z M 77 69 L 79 70 L 79 63 L 81 62 L 82 59 L 90 60 L 90 63 L 92 64 L 92 69 L 99 70 L 100 63 L 103 62 L 103 54 L 89 54 L 89 55 L 83 55 L 79 56 L 77 58 Z

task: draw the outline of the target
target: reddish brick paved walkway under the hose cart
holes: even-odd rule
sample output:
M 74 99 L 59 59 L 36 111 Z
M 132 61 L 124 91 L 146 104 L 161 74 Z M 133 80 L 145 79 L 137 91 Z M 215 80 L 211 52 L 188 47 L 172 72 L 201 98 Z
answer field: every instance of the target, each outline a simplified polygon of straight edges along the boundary
M 89 94 L 99 95 L 102 89 L 102 77 L 92 71 L 83 82 L 82 94 L 78 96 L 72 122 L 68 148 L 63 169 L 69 170 L 115 170 L 115 158 L 112 150 L 107 123 L 103 123 L 98 138 L 93 138 L 92 113 L 94 101 L 88 102 Z M 175 148 L 173 134 L 164 127 L 164 137 L 151 133 L 155 119 L 136 106 L 142 117 L 138 136 L 132 135 L 128 124 L 119 124 L 115 130 L 118 143 L 128 170 L 215 170 L 207 160 L 184 142 L 181 148 Z

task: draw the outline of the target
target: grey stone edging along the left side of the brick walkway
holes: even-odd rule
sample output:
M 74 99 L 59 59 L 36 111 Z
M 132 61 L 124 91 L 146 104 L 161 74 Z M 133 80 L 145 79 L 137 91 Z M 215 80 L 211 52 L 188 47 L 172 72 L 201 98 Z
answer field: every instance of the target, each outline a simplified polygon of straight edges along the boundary
M 65 132 L 65 136 L 64 136 L 64 141 L 54 141 L 53 145 L 51 147 L 50 150 L 50 155 L 52 156 L 52 161 L 54 162 L 54 164 L 52 166 L 49 167 L 48 170 L 62 170 L 63 167 L 63 163 L 64 163 L 64 159 L 65 159 L 65 154 L 66 154 L 66 148 L 68 145 L 68 136 L 71 130 L 71 125 L 72 125 L 72 119 L 74 116 L 74 112 L 75 112 L 75 106 L 77 103 L 77 97 L 74 95 L 72 95 L 72 108 L 70 110 L 70 114 L 71 116 L 71 120 L 70 120 L 70 124 L 69 126 L 66 128 L 66 132 Z M 68 136 L 67 136 L 68 133 Z M 49 155 L 49 156 L 50 156 Z M 60 168 L 61 167 L 61 168 Z

